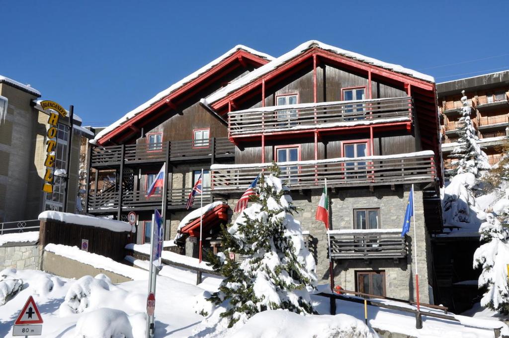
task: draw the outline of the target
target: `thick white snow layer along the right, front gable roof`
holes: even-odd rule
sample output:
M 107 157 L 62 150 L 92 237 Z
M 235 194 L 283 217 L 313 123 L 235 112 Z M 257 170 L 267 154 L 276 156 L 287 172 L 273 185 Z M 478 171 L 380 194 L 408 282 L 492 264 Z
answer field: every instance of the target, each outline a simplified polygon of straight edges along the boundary
M 388 70 L 391 70 L 394 72 L 410 75 L 412 77 L 415 77 L 415 78 L 418 78 L 421 80 L 435 82 L 435 79 L 433 78 L 433 76 L 426 75 L 426 74 L 417 72 L 415 70 L 405 68 L 400 65 L 390 64 L 390 63 L 386 63 L 386 62 L 383 62 L 383 61 L 380 61 L 377 59 L 366 57 L 364 55 L 361 55 L 361 54 L 358 54 L 358 53 L 355 53 L 355 52 L 352 52 L 349 50 L 341 49 L 338 47 L 334 47 L 334 46 L 325 44 L 325 43 L 317 41 L 317 40 L 310 40 L 310 41 L 304 42 L 303 44 L 297 46 L 296 48 L 290 50 L 289 52 L 282 54 L 279 58 L 269 62 L 268 64 L 263 65 L 262 67 L 253 70 L 252 72 L 239 78 L 238 80 L 233 81 L 232 83 L 230 83 L 230 85 L 224 87 L 223 89 L 209 95 L 206 98 L 206 101 L 208 103 L 213 103 L 213 102 L 220 100 L 221 98 L 227 96 L 228 94 L 247 85 L 252 80 L 257 79 L 257 78 L 261 77 L 262 75 L 276 69 L 277 67 L 290 61 L 291 59 L 295 58 L 297 55 L 301 54 L 302 52 L 306 51 L 307 49 L 310 49 L 313 47 L 318 47 L 318 48 L 321 48 L 324 50 L 328 50 L 333 53 L 343 55 L 347 58 L 358 60 L 358 61 L 361 61 L 361 62 L 364 62 L 367 64 L 371 64 L 374 66 L 382 67 L 382 68 L 385 68 L 385 69 L 388 69 Z

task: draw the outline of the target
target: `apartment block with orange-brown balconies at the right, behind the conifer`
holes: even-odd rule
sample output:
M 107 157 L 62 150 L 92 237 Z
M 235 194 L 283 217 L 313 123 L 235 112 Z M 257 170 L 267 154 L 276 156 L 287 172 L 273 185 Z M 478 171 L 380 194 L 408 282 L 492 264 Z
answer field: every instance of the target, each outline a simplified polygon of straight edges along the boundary
M 451 167 L 451 159 L 447 156 L 458 142 L 463 90 L 472 108 L 471 119 L 480 138 L 480 146 L 488 155 L 490 164 L 496 164 L 502 157 L 500 145 L 509 135 L 509 70 L 437 83 L 446 168 Z

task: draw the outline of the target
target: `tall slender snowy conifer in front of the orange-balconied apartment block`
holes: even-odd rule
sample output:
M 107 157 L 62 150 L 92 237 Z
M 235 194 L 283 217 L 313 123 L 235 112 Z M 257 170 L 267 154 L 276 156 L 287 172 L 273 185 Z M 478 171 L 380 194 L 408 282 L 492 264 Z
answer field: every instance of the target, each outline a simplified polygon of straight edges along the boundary
M 471 108 L 468 106 L 467 97 L 465 91 L 462 91 L 463 95 L 461 102 L 463 107 L 461 108 L 460 123 L 462 123 L 458 140 L 459 146 L 455 147 L 453 152 L 449 155 L 449 158 L 456 159 L 457 167 L 448 172 L 449 176 L 456 174 L 472 173 L 475 178 L 482 176 L 483 171 L 490 169 L 488 157 L 482 151 L 478 145 L 479 137 L 475 134 L 473 122 L 470 119 Z

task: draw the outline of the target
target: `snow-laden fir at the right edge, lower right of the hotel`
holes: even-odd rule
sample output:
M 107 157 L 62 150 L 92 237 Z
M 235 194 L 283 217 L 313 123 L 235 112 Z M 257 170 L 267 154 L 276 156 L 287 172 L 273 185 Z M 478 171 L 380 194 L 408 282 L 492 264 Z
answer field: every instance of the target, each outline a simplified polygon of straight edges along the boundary
M 491 213 L 487 214 L 486 222 L 479 228 L 480 240 L 485 244 L 475 250 L 474 268 L 481 267 L 479 288 L 486 292 L 480 301 L 484 307 L 489 307 L 502 314 L 509 313 L 509 279 L 507 264 L 509 264 L 509 231 Z

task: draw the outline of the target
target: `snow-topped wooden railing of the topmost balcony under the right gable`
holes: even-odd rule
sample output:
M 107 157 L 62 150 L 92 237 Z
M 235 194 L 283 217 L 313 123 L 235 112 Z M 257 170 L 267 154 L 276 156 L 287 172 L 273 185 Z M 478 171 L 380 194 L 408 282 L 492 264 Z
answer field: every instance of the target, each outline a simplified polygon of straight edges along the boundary
M 303 103 L 232 111 L 231 136 L 411 121 L 411 97 Z

